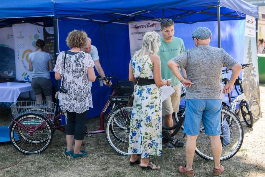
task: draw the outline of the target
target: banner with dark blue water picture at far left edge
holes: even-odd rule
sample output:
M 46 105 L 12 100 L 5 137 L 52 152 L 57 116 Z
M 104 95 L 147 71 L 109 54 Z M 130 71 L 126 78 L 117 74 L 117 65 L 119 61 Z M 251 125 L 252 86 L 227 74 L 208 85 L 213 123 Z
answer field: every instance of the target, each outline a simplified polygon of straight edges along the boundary
M 12 27 L 0 28 L 0 78 L 16 78 L 15 52 Z

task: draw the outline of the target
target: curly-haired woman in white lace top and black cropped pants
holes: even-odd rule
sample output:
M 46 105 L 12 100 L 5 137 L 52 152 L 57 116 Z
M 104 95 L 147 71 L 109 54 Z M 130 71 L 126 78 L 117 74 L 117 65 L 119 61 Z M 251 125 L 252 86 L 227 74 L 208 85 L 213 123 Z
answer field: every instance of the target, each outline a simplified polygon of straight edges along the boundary
M 64 51 L 58 55 L 54 71 L 55 79 L 62 79 L 61 85 L 63 81 L 63 87 L 67 90 L 67 93 L 62 91 L 58 96 L 59 105 L 67 110 L 65 154 L 78 158 L 86 155 L 85 150 L 80 150 L 80 147 L 85 136 L 87 110 L 93 107 L 88 81 L 94 82 L 96 76 L 91 56 L 80 50 L 87 43 L 87 34 L 84 31 L 73 30 L 69 32 L 66 42 L 71 50 L 66 51 L 66 57 Z

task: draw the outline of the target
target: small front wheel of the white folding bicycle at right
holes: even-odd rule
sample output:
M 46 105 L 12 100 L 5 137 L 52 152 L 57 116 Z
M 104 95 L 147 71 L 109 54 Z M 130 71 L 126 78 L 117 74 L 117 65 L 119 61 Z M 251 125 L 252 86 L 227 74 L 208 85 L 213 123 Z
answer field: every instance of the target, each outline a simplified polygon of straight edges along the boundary
M 239 105 L 241 115 L 242 115 L 246 125 L 251 128 L 251 127 L 253 127 L 254 120 L 253 120 L 253 115 L 252 115 L 251 109 L 249 107 L 249 103 L 246 100 L 244 100 L 242 106 L 241 106 L 241 104 Z

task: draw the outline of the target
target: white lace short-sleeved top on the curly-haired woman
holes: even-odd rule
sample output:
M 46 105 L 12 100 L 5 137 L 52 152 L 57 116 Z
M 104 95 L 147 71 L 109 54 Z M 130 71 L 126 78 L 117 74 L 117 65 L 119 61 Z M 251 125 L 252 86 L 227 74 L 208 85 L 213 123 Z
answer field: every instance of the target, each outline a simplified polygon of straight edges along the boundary
M 95 64 L 89 54 L 80 52 L 75 55 L 67 54 L 64 67 L 64 55 L 64 51 L 59 53 L 54 67 L 54 72 L 64 74 L 64 89 L 67 90 L 66 94 L 59 93 L 59 105 L 69 112 L 85 112 L 93 107 L 87 68 Z

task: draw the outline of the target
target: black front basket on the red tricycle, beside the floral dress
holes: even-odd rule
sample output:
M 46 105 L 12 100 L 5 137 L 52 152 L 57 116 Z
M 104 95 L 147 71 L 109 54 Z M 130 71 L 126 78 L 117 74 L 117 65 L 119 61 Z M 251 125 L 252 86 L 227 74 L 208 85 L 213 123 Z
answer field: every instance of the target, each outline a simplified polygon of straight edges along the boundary
M 134 89 L 134 82 L 129 81 L 129 79 L 119 80 L 116 89 L 120 96 L 130 96 Z

